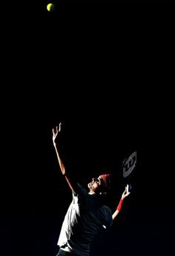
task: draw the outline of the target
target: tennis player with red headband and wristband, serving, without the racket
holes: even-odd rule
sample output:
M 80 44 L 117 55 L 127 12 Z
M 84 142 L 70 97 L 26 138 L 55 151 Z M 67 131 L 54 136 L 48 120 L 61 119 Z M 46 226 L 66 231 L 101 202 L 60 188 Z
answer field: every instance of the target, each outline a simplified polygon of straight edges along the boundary
M 131 193 L 128 185 L 122 193 L 116 211 L 112 213 L 110 208 L 103 203 L 103 196 L 111 187 L 113 176 L 111 173 L 102 173 L 92 178 L 87 184 L 88 191 L 73 178 L 62 161 L 59 152 L 59 136 L 62 123 L 59 127 L 53 128 L 53 146 L 59 161 L 62 175 L 65 176 L 67 184 L 72 191 L 72 202 L 70 203 L 62 228 L 59 234 L 57 245 L 59 256 L 89 256 L 90 244 L 93 237 L 99 232 L 113 225 L 119 211 L 121 211 L 124 199 Z M 77 160 L 78 161 L 78 160 Z M 57 255 L 57 256 L 58 256 Z

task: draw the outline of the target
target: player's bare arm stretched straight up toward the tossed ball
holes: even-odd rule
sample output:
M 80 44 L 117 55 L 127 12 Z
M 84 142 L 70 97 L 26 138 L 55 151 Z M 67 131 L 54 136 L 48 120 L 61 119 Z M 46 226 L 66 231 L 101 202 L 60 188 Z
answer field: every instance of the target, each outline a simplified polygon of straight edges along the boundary
M 59 133 L 61 132 L 61 129 L 62 129 L 62 123 L 59 123 L 59 127 L 56 127 L 56 128 L 52 129 L 52 131 L 53 131 L 53 146 L 54 146 L 54 148 L 56 150 L 56 156 L 57 156 L 57 159 L 59 161 L 59 167 L 60 167 L 60 169 L 62 171 L 62 175 L 65 176 L 65 179 L 67 180 L 67 183 L 70 186 L 71 190 L 73 192 L 76 192 L 75 182 L 73 182 L 70 179 L 70 176 L 68 175 L 68 173 L 67 173 L 67 171 L 65 169 L 65 164 L 63 163 L 62 158 L 60 157 L 60 154 L 59 154 L 58 137 L 59 137 Z

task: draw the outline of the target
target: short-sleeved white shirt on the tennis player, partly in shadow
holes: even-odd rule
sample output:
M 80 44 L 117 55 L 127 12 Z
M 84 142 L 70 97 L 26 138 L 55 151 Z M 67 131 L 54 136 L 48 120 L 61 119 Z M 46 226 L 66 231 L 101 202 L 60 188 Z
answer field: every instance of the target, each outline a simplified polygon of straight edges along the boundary
M 65 215 L 58 245 L 67 252 L 89 256 L 90 243 L 98 231 L 113 224 L 112 213 L 99 196 L 90 195 L 77 184 L 77 193 Z

